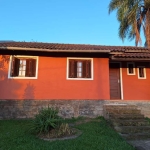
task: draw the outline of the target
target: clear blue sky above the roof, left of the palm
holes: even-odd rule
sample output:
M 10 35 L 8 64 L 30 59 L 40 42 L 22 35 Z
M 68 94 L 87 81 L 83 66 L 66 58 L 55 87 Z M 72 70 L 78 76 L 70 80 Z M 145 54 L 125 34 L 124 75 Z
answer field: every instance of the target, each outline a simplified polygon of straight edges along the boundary
M 118 36 L 110 0 L 1 0 L 0 40 L 134 46 Z

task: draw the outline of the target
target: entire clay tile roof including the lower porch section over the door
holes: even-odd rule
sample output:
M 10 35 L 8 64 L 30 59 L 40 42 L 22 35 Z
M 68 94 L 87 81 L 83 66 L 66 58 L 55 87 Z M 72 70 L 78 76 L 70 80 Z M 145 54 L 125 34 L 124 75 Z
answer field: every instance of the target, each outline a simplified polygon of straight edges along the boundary
M 132 46 L 105 46 L 105 45 L 86 45 L 86 44 L 59 44 L 59 43 L 39 43 L 39 42 L 0 42 L 0 49 L 8 47 L 35 48 L 47 50 L 68 50 L 68 51 L 105 51 L 109 50 L 114 58 L 150 58 L 150 48 Z M 122 52 L 123 54 L 117 54 Z

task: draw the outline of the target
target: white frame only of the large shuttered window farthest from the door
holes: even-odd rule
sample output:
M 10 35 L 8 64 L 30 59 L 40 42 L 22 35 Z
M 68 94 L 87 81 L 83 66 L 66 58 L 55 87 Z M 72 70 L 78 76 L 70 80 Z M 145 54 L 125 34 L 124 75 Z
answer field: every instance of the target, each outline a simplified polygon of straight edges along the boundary
M 18 57 L 18 58 L 33 58 L 36 59 L 36 74 L 35 77 L 11 77 L 11 65 L 12 65 L 12 58 Z M 37 79 L 38 78 L 38 63 L 39 63 L 39 57 L 38 56 L 24 56 L 24 55 L 11 55 L 9 60 L 9 69 L 8 69 L 8 79 Z

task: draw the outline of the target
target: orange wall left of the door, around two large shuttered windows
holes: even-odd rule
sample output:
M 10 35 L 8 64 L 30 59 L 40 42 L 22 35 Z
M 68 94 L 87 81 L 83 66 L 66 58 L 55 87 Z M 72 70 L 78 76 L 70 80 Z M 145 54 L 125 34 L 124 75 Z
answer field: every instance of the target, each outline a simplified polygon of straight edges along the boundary
M 94 58 L 94 80 L 67 80 L 67 58 L 39 57 L 38 79 L 8 79 L 0 57 L 0 99 L 110 99 L 109 59 Z

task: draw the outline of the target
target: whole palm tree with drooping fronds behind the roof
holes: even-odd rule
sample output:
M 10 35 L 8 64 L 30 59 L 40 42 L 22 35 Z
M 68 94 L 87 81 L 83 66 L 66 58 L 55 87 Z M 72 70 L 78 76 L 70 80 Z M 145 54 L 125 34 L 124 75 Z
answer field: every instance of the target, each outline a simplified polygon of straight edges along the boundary
M 136 46 L 142 44 L 140 30 L 145 35 L 145 46 L 150 47 L 150 0 L 111 0 L 109 13 L 117 10 L 120 22 L 119 37 L 135 39 Z

